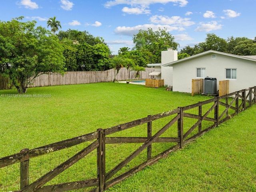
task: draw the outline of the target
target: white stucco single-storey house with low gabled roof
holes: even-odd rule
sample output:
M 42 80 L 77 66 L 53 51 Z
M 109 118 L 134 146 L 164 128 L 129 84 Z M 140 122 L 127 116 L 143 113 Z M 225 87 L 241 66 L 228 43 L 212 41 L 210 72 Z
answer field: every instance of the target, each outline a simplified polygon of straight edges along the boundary
M 256 86 L 256 56 L 209 50 L 181 60 L 164 60 L 160 68 L 164 84 L 178 92 L 191 93 L 192 79 L 205 77 L 217 79 L 217 90 L 220 80 L 229 80 L 230 93 Z M 166 69 L 168 72 L 165 72 Z

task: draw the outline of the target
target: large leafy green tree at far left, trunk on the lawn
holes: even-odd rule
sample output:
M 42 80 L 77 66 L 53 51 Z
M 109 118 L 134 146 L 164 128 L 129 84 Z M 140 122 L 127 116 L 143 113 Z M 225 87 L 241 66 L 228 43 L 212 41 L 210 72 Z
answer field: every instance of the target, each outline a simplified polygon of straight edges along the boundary
M 22 22 L 22 18 L 0 22 L 0 74 L 8 77 L 20 94 L 41 74 L 63 74 L 65 64 L 57 36 L 36 27 L 36 21 Z

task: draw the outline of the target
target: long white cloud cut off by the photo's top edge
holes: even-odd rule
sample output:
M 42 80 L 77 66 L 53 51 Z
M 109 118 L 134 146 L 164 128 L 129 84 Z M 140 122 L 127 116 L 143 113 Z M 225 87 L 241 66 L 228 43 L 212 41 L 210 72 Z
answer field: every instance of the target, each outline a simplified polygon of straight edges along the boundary
M 120 5 L 120 4 L 126 4 L 130 6 L 140 6 L 140 5 L 150 5 L 150 4 L 156 4 L 156 3 L 161 3 L 161 4 L 166 4 L 166 3 L 175 3 L 179 4 L 181 7 L 186 6 L 188 4 L 187 0 L 112 0 L 106 2 L 104 6 L 106 8 L 110 8 L 112 6 Z

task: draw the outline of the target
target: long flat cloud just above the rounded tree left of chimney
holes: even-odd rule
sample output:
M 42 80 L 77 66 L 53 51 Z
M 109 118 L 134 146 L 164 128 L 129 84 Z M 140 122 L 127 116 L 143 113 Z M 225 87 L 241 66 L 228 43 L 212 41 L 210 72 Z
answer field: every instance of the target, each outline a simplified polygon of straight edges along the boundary
M 173 31 L 173 30 L 183 31 L 183 30 L 185 30 L 183 27 L 178 27 L 178 26 L 144 24 L 144 25 L 137 25 L 137 26 L 133 26 L 133 27 L 119 26 L 115 29 L 115 33 L 118 35 L 133 36 L 134 34 L 137 34 L 140 29 L 148 30 L 148 28 L 152 28 L 153 31 L 158 30 L 158 28 L 166 28 L 167 31 Z

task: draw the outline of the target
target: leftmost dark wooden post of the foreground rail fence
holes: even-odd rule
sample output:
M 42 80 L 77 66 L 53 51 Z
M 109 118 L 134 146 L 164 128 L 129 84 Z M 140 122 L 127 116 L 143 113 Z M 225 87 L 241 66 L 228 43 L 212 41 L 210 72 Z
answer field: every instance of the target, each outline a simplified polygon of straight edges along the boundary
M 28 148 L 20 150 L 26 152 Z M 20 162 L 20 190 L 29 185 L 29 160 Z

